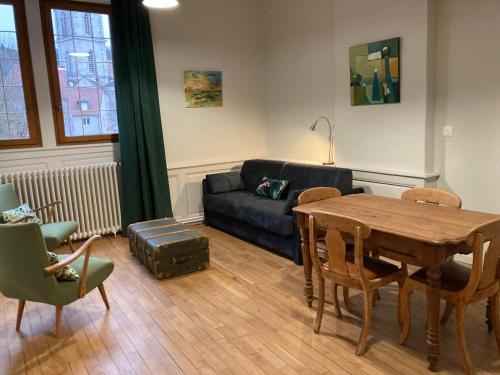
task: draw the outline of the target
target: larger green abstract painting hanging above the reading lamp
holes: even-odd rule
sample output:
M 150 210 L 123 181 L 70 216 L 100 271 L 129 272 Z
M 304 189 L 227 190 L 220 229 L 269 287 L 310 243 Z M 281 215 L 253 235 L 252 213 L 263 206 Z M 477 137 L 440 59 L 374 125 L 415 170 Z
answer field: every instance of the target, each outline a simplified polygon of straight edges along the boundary
M 351 105 L 400 101 L 399 38 L 349 49 Z

